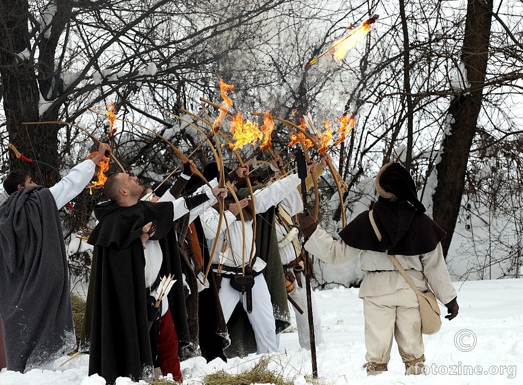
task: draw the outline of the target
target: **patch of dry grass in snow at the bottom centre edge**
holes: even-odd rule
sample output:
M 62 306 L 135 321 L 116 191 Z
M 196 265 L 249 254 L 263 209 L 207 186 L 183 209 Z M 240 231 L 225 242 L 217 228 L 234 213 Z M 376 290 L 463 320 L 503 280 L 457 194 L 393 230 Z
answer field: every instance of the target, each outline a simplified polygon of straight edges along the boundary
M 236 375 L 220 370 L 203 378 L 203 385 L 251 385 L 252 383 L 270 383 L 274 385 L 293 385 L 294 379 L 283 378 L 280 372 L 270 370 L 271 357 L 261 357 L 250 370 Z

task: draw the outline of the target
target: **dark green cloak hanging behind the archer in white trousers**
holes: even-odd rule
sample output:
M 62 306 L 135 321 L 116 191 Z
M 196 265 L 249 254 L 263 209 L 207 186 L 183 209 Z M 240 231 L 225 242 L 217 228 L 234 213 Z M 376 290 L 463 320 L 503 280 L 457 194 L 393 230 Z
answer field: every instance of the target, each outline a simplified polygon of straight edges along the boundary
M 238 198 L 247 195 L 245 190 L 238 191 Z M 276 207 L 272 207 L 264 213 L 256 214 L 256 234 L 254 235 L 256 236 L 255 256 L 267 263 L 263 274 L 270 292 L 276 333 L 280 333 L 290 326 L 290 313 L 274 223 L 275 212 Z M 253 306 L 255 305 L 253 304 Z M 231 336 L 231 346 L 225 350 L 227 357 L 245 357 L 248 354 L 256 353 L 254 331 L 241 303 L 238 302 L 227 327 Z

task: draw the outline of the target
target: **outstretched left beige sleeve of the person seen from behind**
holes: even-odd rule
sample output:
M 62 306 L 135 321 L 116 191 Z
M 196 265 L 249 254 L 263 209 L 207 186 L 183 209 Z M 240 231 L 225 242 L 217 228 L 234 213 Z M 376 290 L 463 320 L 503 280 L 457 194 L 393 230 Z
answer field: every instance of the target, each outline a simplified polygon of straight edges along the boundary
M 334 240 L 320 226 L 305 243 L 305 249 L 331 265 L 343 265 L 361 254 L 361 250 L 347 245 L 343 240 Z

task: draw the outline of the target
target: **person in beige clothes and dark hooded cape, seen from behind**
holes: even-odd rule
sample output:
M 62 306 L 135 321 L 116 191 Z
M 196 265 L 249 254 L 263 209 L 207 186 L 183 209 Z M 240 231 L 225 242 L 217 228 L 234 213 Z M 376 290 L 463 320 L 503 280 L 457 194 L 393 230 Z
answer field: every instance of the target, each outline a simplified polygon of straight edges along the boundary
M 458 315 L 457 294 L 445 264 L 440 241 L 446 235 L 425 214 L 416 185 L 408 171 L 396 162 L 384 165 L 376 176 L 379 198 L 372 211 L 359 214 L 340 231 L 335 241 L 310 217 L 300 217 L 300 228 L 309 240 L 305 249 L 323 261 L 341 265 L 360 257 L 365 278 L 359 297 L 363 300 L 368 375 L 387 370 L 395 337 L 406 375 L 425 373 L 422 320 L 416 293 L 394 266 L 395 255 L 418 290 L 428 286 L 447 307 L 452 320 Z M 373 223 L 382 234 L 379 240 Z

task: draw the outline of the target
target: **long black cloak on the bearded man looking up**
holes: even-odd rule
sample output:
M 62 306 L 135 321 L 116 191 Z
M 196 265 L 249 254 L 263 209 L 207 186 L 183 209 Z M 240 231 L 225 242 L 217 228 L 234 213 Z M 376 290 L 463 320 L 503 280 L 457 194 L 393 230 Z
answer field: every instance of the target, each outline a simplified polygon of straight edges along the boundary
M 99 223 L 88 240 L 97 253 L 89 376 L 98 373 L 108 383 L 120 376 L 138 381 L 153 375 L 140 236 L 143 226 L 156 220 L 151 239 L 162 239 L 173 225 L 173 203 L 104 202 L 94 211 Z

